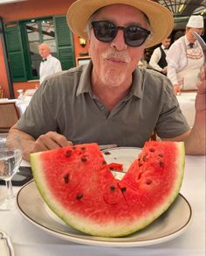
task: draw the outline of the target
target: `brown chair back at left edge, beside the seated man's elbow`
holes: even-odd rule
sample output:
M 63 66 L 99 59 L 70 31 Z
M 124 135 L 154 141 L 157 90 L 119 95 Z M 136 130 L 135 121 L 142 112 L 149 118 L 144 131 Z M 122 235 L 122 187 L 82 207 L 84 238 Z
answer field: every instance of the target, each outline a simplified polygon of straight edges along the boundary
M 9 132 L 19 117 L 15 102 L 0 102 L 0 132 Z

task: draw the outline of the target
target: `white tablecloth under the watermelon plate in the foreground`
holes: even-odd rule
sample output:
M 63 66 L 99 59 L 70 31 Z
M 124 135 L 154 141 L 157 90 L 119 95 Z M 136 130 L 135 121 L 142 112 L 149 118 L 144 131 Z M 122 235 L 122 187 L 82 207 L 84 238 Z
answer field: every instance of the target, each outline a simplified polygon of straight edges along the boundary
M 0 186 L 0 197 L 3 196 L 3 188 Z M 15 190 L 17 192 L 17 188 Z M 10 235 L 16 256 L 205 256 L 204 156 L 186 157 L 181 193 L 192 207 L 192 222 L 181 236 L 158 245 L 111 248 L 74 244 L 42 231 L 18 210 L 0 211 L 0 230 Z

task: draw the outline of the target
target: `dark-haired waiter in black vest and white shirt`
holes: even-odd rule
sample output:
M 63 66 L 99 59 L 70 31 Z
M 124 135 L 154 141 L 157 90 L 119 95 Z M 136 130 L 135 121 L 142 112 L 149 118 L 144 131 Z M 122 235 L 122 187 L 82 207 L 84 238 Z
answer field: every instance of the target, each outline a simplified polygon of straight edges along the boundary
M 168 38 L 161 41 L 161 46 L 154 49 L 151 59 L 149 60 L 149 66 L 164 75 L 167 74 L 168 63 L 166 60 L 166 55 L 170 44 L 171 38 L 169 36 Z

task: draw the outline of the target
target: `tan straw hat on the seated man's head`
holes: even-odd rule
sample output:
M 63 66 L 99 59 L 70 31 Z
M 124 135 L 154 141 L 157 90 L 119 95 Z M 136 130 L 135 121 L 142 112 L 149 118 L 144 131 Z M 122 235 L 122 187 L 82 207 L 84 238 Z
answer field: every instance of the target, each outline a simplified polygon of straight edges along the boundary
M 147 40 L 147 47 L 159 44 L 173 30 L 174 20 L 172 13 L 161 4 L 150 0 L 77 0 L 67 11 L 67 24 L 72 32 L 75 32 L 83 39 L 87 39 L 85 29 L 89 18 L 95 11 L 110 4 L 128 4 L 148 16 L 152 28 L 152 36 Z

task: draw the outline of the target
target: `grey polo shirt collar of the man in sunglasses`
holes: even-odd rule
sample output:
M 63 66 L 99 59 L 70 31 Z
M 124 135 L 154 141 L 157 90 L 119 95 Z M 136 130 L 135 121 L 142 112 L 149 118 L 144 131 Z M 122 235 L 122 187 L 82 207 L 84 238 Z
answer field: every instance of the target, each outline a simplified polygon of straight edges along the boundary
M 92 85 L 90 80 L 90 74 L 93 68 L 93 62 L 90 61 L 88 65 L 80 67 L 82 68 L 82 74 L 79 80 L 79 86 L 77 89 L 76 96 L 83 93 L 89 93 L 93 96 Z M 127 98 L 131 96 L 142 97 L 141 82 L 143 80 L 141 68 L 136 68 L 133 73 L 133 83 Z M 95 98 L 95 96 L 93 96 Z

